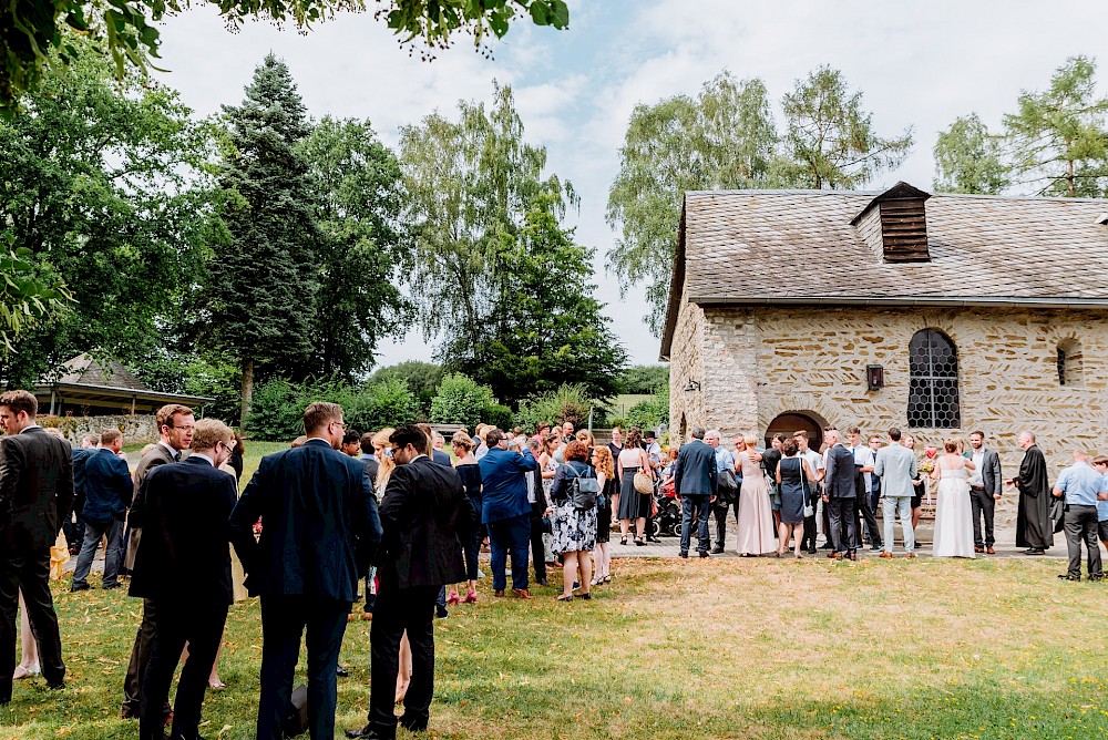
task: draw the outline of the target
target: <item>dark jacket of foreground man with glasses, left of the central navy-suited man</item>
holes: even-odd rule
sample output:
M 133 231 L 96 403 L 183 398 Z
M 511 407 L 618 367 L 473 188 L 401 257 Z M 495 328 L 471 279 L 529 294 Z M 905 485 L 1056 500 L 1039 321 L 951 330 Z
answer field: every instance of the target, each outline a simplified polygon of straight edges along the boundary
M 147 472 L 142 483 L 146 534 L 131 574 L 132 596 L 229 605 L 235 476 L 203 455 Z

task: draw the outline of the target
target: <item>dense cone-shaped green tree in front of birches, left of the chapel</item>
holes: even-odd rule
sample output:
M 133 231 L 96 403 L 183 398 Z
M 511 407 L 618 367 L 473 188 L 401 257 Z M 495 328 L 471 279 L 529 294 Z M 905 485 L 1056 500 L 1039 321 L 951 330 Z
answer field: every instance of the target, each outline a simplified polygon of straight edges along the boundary
M 504 282 L 476 341 L 458 336 L 440 350 L 448 368 L 488 383 L 503 403 L 566 382 L 607 399 L 627 360 L 593 297 L 593 250 L 574 244 L 556 206 L 553 196 L 536 198 L 524 228 L 502 240 Z

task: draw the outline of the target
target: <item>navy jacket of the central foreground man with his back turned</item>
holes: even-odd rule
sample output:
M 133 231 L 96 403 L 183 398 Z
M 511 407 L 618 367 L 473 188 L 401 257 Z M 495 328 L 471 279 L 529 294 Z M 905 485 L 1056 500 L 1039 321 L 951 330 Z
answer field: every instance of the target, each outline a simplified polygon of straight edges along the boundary
M 261 459 L 230 531 L 252 595 L 340 602 L 353 602 L 381 541 L 366 464 L 320 439 Z

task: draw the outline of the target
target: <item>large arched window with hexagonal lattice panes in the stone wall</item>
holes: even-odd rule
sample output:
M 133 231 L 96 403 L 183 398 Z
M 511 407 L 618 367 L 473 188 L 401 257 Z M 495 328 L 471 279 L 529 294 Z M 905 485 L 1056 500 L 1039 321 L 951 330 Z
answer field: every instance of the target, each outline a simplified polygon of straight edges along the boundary
M 950 337 L 936 329 L 916 331 L 909 345 L 911 381 L 907 425 L 919 429 L 957 429 L 958 352 Z

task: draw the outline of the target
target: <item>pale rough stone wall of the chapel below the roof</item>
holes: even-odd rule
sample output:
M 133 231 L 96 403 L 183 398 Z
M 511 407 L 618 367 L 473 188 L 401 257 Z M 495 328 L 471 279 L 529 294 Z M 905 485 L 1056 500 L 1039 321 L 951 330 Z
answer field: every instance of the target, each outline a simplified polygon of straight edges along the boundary
M 1004 474 L 1022 456 L 1016 435 L 1038 435 L 1051 475 L 1075 448 L 1108 452 L 1104 402 L 1108 337 L 1091 311 L 1030 309 L 700 309 L 683 304 L 673 342 L 675 431 L 716 426 L 759 435 L 780 413 L 863 432 L 907 429 L 909 342 L 920 329 L 947 335 L 958 351 L 962 426 L 910 429 L 916 449 L 982 430 Z M 1058 382 L 1057 349 L 1080 345 L 1078 384 Z M 885 387 L 866 390 L 865 366 L 884 367 Z M 1075 369 L 1076 370 L 1076 369 Z M 701 390 L 686 393 L 689 380 Z

